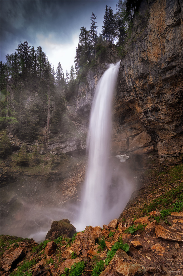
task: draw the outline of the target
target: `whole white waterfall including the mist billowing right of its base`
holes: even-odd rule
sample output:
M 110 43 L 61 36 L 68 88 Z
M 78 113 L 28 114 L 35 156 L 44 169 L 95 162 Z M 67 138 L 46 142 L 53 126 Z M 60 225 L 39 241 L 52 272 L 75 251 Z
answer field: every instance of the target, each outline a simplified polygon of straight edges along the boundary
M 119 216 L 130 195 L 131 187 L 120 171 L 115 171 L 110 162 L 112 135 L 112 97 L 116 86 L 120 61 L 109 69 L 99 80 L 91 106 L 90 124 L 87 137 L 89 151 L 88 170 L 81 200 L 79 221 L 76 230 L 86 225 L 102 226 Z

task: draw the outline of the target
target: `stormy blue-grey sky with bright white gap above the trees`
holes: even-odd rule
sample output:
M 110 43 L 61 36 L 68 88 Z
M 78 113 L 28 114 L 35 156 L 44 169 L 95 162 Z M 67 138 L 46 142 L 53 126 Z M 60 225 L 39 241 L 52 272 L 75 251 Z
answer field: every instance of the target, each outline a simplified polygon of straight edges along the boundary
M 116 0 L 1 0 L 1 52 L 15 53 L 20 42 L 41 46 L 52 67 L 61 63 L 63 72 L 74 64 L 80 28 L 90 29 L 91 13 L 96 15 L 97 32 L 102 31 L 106 5 L 116 12 Z

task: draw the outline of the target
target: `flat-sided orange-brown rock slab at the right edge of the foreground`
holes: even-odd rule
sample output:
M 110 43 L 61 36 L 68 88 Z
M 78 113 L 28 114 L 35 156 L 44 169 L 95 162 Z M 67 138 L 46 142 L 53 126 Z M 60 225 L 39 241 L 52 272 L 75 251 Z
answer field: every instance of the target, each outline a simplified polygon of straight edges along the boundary
M 162 225 L 155 227 L 156 238 L 168 241 L 183 241 L 182 236 L 165 229 Z

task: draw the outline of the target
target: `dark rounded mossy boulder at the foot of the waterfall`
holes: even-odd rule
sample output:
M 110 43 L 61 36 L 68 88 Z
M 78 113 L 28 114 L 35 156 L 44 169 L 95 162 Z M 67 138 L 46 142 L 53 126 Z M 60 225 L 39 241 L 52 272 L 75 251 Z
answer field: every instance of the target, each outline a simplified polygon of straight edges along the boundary
M 62 219 L 61 221 L 53 221 L 51 229 L 46 234 L 45 239 L 55 240 L 60 236 L 67 236 L 72 238 L 76 233 L 76 228 L 70 223 L 68 219 Z

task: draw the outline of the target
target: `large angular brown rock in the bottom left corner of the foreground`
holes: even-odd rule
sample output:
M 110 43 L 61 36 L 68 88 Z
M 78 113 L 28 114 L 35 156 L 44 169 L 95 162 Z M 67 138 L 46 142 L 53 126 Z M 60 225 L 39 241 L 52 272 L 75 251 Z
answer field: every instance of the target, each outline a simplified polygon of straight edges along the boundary
M 11 267 L 16 266 L 18 262 L 26 256 L 26 252 L 22 247 L 18 247 L 9 254 L 6 254 L 4 257 L 1 257 L 1 266 L 5 271 L 9 271 Z

